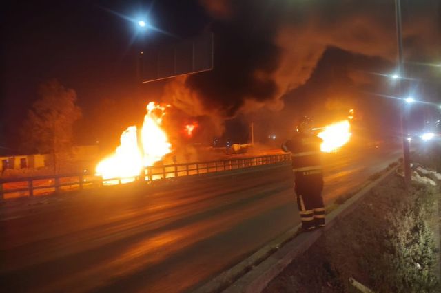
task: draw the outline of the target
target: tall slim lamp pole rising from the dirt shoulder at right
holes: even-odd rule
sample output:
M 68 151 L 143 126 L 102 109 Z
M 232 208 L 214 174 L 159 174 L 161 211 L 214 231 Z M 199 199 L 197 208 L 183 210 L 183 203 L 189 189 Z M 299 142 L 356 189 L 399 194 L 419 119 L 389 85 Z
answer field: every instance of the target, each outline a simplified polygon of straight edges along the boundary
M 402 57 L 402 26 L 401 26 L 401 1 L 395 0 L 396 25 L 397 25 L 397 43 L 398 43 L 398 94 L 402 98 L 402 89 L 400 79 L 404 76 L 404 63 Z M 409 151 L 409 140 L 407 140 L 407 113 L 409 104 L 403 102 L 401 111 L 401 132 L 402 132 L 402 151 L 403 151 L 403 169 L 404 184 L 409 190 L 411 185 L 411 156 Z

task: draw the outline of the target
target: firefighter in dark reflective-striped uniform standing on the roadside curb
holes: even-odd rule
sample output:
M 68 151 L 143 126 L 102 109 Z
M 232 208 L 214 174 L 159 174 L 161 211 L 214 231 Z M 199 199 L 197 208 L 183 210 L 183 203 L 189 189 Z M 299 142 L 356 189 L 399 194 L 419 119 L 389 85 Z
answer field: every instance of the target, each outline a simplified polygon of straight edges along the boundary
M 311 119 L 303 117 L 293 138 L 282 144 L 283 151 L 291 152 L 297 206 L 306 231 L 325 226 L 321 143 L 322 139 L 312 131 Z

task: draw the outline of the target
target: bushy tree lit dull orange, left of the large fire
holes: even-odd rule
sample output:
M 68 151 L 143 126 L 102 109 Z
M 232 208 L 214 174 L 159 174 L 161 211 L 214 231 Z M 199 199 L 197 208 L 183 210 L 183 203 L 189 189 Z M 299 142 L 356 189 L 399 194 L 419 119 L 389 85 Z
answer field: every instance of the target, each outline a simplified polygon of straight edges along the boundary
M 40 85 L 39 97 L 25 120 L 23 143 L 33 151 L 49 153 L 54 172 L 58 173 L 72 150 L 73 125 L 81 118 L 81 109 L 75 104 L 75 91 L 66 89 L 58 80 Z

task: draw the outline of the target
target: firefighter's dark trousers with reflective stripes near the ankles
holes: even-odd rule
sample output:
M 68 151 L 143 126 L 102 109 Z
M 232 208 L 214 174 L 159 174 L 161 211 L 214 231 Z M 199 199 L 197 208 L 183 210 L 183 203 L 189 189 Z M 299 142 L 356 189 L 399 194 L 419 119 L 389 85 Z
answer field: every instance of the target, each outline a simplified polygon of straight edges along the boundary
M 295 172 L 295 176 L 297 206 L 302 219 L 302 228 L 312 230 L 325 226 L 322 171 Z

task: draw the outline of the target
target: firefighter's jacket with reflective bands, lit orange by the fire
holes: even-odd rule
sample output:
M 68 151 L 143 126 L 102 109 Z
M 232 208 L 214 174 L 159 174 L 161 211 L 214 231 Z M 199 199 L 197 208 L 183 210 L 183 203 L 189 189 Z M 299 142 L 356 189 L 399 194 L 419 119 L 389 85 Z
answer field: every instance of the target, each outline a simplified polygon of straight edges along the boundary
M 285 152 L 291 152 L 292 167 L 296 175 L 322 173 L 320 144 L 322 139 L 311 134 L 297 133 L 282 144 Z

